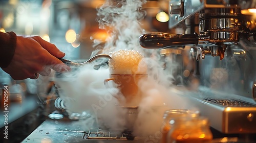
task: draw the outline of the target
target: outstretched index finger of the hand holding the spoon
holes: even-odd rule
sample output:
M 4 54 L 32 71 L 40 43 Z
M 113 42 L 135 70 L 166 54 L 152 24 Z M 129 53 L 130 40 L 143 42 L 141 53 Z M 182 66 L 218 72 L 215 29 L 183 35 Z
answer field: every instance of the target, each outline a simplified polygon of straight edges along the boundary
M 34 36 L 34 39 L 50 54 L 57 58 L 62 58 L 65 56 L 65 53 L 59 51 L 55 44 L 47 42 L 46 40 L 42 39 L 40 36 Z

